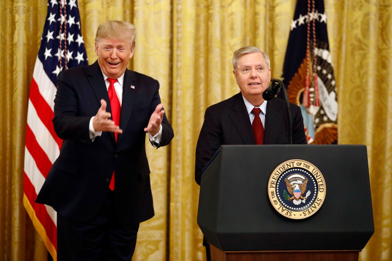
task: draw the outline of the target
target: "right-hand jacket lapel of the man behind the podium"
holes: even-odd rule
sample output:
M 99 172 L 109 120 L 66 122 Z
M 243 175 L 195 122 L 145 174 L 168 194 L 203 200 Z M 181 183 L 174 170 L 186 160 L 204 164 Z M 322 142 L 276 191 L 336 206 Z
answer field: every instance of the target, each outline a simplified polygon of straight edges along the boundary
M 275 99 L 267 102 L 267 111 L 265 115 L 265 131 L 264 131 L 264 144 L 275 144 L 277 140 L 277 134 L 281 125 L 281 120 L 284 111 L 284 107 L 279 107 L 275 102 Z M 282 111 L 283 110 L 283 111 Z

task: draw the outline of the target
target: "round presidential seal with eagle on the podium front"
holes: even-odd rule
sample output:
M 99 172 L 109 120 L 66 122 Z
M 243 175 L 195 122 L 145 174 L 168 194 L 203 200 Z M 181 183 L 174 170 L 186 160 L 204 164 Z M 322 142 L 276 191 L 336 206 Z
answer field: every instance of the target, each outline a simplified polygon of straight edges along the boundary
M 303 219 L 316 213 L 324 202 L 325 181 L 312 163 L 291 159 L 281 163 L 268 181 L 268 197 L 281 215 Z

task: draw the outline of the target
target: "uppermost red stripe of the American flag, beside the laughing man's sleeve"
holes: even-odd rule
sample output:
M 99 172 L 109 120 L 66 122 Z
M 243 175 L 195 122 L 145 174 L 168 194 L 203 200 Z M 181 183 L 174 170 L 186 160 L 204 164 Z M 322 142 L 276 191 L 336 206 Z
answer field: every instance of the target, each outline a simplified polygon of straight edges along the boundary
M 40 94 L 38 89 L 38 85 L 35 82 L 34 78 L 31 80 L 31 89 L 30 89 L 30 101 L 33 103 L 33 106 L 38 114 L 38 117 L 41 119 L 42 123 L 44 123 L 46 129 L 49 130 L 50 134 L 52 134 L 53 139 L 56 141 L 58 148 L 61 149 L 62 140 L 58 138 L 56 132 L 53 128 L 52 119 L 54 118 L 54 112 L 49 104 L 45 101 L 45 99 Z

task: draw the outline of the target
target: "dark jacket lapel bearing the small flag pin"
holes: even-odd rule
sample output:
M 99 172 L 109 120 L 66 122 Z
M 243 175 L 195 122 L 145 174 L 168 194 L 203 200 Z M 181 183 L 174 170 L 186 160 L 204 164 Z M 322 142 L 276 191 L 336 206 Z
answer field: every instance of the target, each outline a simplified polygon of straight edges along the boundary
M 133 105 L 135 104 L 135 100 L 139 91 L 140 86 L 136 85 L 136 77 L 134 76 L 134 72 L 130 70 L 125 71 L 124 82 L 123 82 L 123 98 L 121 104 L 121 114 L 120 114 L 120 129 L 125 133 L 129 118 L 132 114 Z M 131 87 L 133 86 L 133 88 Z M 119 134 L 117 137 L 117 144 L 122 140 L 122 134 Z

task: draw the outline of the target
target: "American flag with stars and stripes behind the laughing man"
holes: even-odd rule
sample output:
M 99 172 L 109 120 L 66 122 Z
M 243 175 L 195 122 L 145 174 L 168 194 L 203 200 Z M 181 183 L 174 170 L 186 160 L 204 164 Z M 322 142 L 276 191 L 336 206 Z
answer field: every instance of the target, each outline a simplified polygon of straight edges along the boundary
M 62 145 L 52 123 L 57 75 L 87 65 L 80 26 L 77 0 L 48 0 L 27 111 L 23 203 L 53 260 L 57 260 L 56 212 L 34 201 Z

